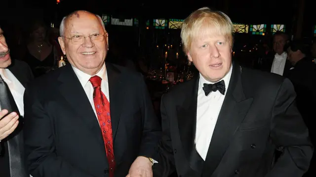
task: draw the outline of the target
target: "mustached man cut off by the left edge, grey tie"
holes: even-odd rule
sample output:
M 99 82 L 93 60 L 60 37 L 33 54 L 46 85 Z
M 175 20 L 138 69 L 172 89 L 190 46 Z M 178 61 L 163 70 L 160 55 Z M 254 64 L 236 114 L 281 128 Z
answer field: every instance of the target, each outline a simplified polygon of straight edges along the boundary
M 0 176 L 29 177 L 23 150 L 23 94 L 33 75 L 25 62 L 11 59 L 2 28 L 0 27 Z

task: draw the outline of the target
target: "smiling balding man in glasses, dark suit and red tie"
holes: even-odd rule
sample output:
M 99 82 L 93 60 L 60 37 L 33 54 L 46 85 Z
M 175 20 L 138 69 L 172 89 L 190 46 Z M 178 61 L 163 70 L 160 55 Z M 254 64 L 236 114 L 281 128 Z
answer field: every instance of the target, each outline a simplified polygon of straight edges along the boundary
M 75 11 L 58 38 L 70 64 L 25 91 L 33 177 L 152 177 L 161 129 L 140 73 L 105 63 L 101 17 Z

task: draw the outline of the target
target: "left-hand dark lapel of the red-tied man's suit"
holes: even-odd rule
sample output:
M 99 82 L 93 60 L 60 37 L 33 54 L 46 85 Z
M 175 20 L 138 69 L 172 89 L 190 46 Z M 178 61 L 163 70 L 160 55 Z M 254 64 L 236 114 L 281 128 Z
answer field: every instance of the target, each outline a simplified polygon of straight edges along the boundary
M 74 116 L 78 116 L 91 130 L 96 140 L 104 146 L 101 129 L 91 104 L 82 88 L 78 77 L 76 76 L 70 64 L 61 68 L 62 71 L 58 80 L 61 82 L 59 86 L 60 93 L 74 109 Z

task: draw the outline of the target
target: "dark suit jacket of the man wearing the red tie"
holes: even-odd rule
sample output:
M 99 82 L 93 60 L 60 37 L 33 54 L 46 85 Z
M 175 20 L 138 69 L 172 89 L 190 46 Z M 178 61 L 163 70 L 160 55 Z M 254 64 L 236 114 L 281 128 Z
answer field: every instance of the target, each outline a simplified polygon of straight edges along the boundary
M 141 74 L 107 64 L 116 160 L 125 177 L 137 156 L 156 159 L 160 126 Z M 108 177 L 98 120 L 71 65 L 25 91 L 25 151 L 33 177 Z

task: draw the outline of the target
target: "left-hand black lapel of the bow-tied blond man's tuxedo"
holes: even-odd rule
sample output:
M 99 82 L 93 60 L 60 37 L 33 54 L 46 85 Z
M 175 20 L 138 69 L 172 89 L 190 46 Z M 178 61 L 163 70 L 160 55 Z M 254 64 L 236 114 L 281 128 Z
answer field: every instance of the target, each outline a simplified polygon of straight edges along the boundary
M 177 106 L 177 118 L 182 147 L 190 162 L 191 168 L 198 169 L 195 150 L 195 134 L 197 126 L 197 89 L 199 75 L 189 81 L 186 86 L 188 89 L 183 93 L 185 100 L 181 106 Z M 196 152 L 196 153 L 195 153 Z

